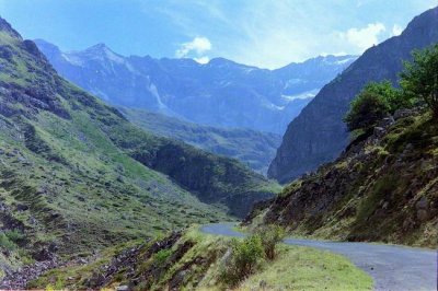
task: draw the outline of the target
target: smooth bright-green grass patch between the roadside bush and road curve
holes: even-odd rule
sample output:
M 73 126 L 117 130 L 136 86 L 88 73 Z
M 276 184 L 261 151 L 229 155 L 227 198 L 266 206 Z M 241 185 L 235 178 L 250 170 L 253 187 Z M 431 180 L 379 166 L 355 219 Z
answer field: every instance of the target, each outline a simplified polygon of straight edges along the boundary
M 371 290 L 372 279 L 348 259 L 326 251 L 283 245 L 278 259 L 238 290 Z

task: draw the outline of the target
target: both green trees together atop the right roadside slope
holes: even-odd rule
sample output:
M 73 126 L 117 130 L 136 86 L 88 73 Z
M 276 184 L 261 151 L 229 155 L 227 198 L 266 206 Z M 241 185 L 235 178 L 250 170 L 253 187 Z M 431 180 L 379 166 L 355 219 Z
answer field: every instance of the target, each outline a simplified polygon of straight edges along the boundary
M 404 63 L 400 85 L 391 82 L 369 83 L 351 102 L 346 114 L 350 131 L 367 131 L 397 109 L 425 103 L 438 116 L 438 45 L 413 53 L 413 61 Z

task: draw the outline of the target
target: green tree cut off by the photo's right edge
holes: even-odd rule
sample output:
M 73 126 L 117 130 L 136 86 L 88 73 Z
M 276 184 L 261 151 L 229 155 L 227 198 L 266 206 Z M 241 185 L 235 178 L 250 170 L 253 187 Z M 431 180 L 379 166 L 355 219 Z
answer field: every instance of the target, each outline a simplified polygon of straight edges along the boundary
M 418 97 L 438 118 L 438 44 L 413 53 L 413 61 L 404 63 L 401 86 L 406 96 Z

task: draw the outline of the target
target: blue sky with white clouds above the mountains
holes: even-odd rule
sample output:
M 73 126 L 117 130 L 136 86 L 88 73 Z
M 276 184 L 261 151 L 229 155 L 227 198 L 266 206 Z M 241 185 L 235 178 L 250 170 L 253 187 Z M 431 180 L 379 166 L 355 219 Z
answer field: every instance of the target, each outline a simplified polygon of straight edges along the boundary
M 360 55 L 438 0 L 0 0 L 24 38 L 61 50 L 104 43 L 124 56 L 224 57 L 279 68 Z

